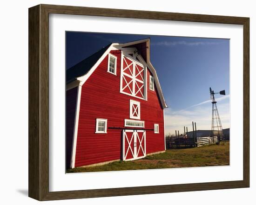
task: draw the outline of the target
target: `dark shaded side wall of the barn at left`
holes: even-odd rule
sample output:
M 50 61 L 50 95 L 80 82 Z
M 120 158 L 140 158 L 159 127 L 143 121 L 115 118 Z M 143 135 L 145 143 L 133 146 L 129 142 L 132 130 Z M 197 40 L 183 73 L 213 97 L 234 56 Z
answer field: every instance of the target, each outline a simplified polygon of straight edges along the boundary
M 77 87 L 66 92 L 66 167 L 70 167 L 74 134 Z

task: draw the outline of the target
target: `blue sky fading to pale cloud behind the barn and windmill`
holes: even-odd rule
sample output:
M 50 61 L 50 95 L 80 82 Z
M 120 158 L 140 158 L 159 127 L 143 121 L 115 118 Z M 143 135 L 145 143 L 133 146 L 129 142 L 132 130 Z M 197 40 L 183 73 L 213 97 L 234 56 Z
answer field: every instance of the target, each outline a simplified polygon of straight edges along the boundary
M 159 78 L 168 109 L 166 133 L 192 129 L 211 129 L 209 87 L 226 96 L 216 95 L 223 128 L 229 128 L 229 39 L 172 36 L 66 33 L 66 67 L 110 43 L 150 38 L 150 60 Z

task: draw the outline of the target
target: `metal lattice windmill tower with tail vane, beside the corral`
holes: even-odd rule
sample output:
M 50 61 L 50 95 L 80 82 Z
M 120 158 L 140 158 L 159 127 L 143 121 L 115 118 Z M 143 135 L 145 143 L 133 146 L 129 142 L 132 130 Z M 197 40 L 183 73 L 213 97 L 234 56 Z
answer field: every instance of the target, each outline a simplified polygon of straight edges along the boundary
M 222 123 L 221 123 L 221 118 L 219 115 L 219 111 L 217 108 L 217 102 L 215 100 L 215 94 L 220 94 L 220 95 L 226 95 L 225 90 L 220 91 L 219 93 L 215 93 L 211 88 L 210 88 L 210 96 L 212 100 L 212 134 L 215 133 L 215 131 L 218 131 L 218 134 L 220 137 L 222 137 L 223 132 L 222 132 Z

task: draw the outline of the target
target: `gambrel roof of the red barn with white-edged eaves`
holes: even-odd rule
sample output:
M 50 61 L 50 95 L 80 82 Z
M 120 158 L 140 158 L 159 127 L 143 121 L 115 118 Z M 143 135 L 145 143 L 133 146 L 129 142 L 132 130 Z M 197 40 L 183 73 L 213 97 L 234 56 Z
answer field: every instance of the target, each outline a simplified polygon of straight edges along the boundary
M 103 47 L 100 51 L 97 51 L 90 57 L 82 60 L 80 63 L 75 64 L 73 67 L 66 71 L 66 83 L 72 83 L 74 81 L 85 83 L 88 77 L 94 72 L 101 61 L 108 55 L 111 50 L 121 50 L 122 48 L 135 48 L 144 59 L 145 64 L 151 71 L 156 85 L 156 90 L 159 94 L 159 98 L 163 108 L 168 108 L 163 94 L 162 89 L 155 71 L 155 68 L 150 62 L 150 38 L 132 41 L 128 43 L 112 43 Z

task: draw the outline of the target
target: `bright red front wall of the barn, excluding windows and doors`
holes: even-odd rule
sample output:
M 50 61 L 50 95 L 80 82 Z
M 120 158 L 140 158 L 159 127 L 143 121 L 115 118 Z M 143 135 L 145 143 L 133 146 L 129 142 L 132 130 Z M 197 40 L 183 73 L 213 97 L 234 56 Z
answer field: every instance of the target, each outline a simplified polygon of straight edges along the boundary
M 160 134 L 146 131 L 147 153 L 165 148 L 163 109 L 156 92 L 149 90 L 148 83 L 148 101 L 121 94 L 121 51 L 111 53 L 117 56 L 117 75 L 107 72 L 107 56 L 82 86 L 75 167 L 121 159 L 121 130 L 95 134 L 96 118 L 108 119 L 107 127 L 124 127 L 124 119 L 129 119 L 130 99 L 141 102 L 141 120 L 146 129 L 159 124 Z

